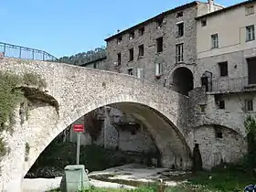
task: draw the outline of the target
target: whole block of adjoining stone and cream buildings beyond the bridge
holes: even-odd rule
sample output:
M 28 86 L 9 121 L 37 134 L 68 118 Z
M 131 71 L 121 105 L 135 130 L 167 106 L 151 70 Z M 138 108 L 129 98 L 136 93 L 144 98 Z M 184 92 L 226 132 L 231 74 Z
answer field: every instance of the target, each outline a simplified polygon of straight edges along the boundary
M 255 112 L 255 6 L 255 0 L 226 8 L 192 2 L 105 39 L 104 69 L 188 96 L 194 106 L 189 145 L 199 147 L 207 169 L 246 153 L 245 130 L 231 127 Z

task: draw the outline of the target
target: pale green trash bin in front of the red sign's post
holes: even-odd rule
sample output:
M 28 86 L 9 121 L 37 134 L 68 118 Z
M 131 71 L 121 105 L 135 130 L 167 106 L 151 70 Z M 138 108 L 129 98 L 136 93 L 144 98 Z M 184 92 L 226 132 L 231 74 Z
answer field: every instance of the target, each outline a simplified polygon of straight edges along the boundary
M 67 165 L 65 167 L 66 191 L 78 192 L 88 189 L 90 181 L 87 172 L 84 165 Z

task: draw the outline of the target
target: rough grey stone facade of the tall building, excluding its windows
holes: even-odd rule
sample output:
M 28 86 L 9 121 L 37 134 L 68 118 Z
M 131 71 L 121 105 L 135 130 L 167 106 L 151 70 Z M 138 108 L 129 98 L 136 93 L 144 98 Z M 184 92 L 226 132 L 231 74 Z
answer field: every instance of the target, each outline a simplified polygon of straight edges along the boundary
M 203 8 L 201 8 L 203 9 Z M 208 9 L 208 7 L 205 7 Z M 197 16 L 197 6 L 193 6 L 183 10 L 183 16 L 176 17 L 176 13 L 165 16 L 164 24 L 161 28 L 156 27 L 155 22 L 151 22 L 144 26 L 144 35 L 139 36 L 138 29 L 135 29 L 135 37 L 129 39 L 128 32 L 124 34 L 121 44 L 117 44 L 117 38 L 107 42 L 107 63 L 116 69 L 115 71 L 128 73 L 127 69 L 133 68 L 133 74 L 137 76 L 137 69 L 144 70 L 144 79 L 152 81 L 160 81 L 164 84 L 172 82 L 170 79 L 172 69 L 176 65 L 183 64 L 186 66 L 194 65 L 197 59 L 196 52 L 196 34 L 197 26 L 195 17 Z M 184 22 L 184 36 L 176 37 L 176 23 Z M 163 52 L 156 52 L 156 38 L 163 37 Z M 176 64 L 176 44 L 184 43 L 184 62 Z M 138 47 L 144 45 L 144 56 L 138 57 Z M 129 61 L 129 49 L 134 50 L 134 59 Z M 121 53 L 122 61 L 120 67 L 115 67 L 117 62 L 117 54 Z M 162 74 L 160 80 L 155 80 L 155 63 L 160 63 Z

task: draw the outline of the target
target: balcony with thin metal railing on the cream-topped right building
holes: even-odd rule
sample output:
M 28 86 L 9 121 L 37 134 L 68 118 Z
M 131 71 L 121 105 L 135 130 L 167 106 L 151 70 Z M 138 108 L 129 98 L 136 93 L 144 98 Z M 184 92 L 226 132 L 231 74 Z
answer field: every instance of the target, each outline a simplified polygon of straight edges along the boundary
M 212 80 L 208 85 L 209 94 L 225 94 L 256 91 L 256 83 L 249 83 L 248 77 Z

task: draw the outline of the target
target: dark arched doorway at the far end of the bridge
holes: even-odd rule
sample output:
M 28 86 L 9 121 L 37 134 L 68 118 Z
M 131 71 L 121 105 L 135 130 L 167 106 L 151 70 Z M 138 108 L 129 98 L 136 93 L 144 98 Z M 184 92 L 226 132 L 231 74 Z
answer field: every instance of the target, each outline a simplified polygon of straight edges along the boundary
M 177 92 L 188 95 L 188 92 L 194 89 L 194 78 L 190 69 L 178 68 L 173 72 L 172 77 Z

